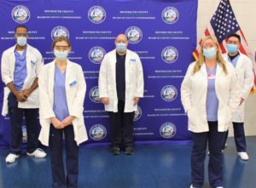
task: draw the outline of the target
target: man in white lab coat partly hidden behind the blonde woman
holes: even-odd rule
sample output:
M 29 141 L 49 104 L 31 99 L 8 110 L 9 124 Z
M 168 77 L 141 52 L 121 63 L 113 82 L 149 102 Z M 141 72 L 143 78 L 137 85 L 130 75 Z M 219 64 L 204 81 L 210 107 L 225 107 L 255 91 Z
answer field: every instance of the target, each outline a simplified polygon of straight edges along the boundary
M 228 54 L 224 56 L 225 60 L 230 61 L 236 68 L 236 75 L 241 88 L 241 102 L 232 117 L 234 137 L 236 142 L 236 150 L 238 156 L 242 160 L 248 160 L 247 143 L 244 133 L 244 107 L 245 100 L 253 87 L 253 64 L 252 61 L 244 54 L 238 51 L 241 45 L 241 37 L 237 34 L 232 34 L 227 38 Z M 226 134 L 226 138 L 228 132 Z M 226 141 L 226 140 L 225 140 Z M 225 143 L 224 143 L 225 144 Z

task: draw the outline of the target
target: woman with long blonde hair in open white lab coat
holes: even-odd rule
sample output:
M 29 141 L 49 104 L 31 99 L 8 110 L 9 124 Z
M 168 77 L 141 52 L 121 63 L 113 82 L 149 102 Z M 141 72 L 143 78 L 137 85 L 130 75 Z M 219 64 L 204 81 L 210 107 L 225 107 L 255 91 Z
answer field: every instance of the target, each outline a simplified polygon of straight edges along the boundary
M 224 187 L 222 146 L 232 114 L 240 103 L 234 67 L 222 56 L 216 37 L 201 41 L 199 60 L 189 65 L 181 85 L 181 100 L 192 134 L 190 187 L 202 187 L 207 144 L 211 187 Z

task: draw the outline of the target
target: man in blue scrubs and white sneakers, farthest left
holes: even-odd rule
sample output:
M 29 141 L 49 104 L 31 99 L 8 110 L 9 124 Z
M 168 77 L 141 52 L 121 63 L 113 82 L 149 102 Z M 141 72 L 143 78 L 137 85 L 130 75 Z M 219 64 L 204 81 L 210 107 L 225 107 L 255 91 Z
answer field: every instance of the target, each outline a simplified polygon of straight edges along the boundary
M 38 74 L 44 65 L 42 55 L 27 41 L 26 26 L 15 28 L 15 46 L 3 52 L 1 74 L 4 88 L 3 116 L 10 118 L 10 153 L 6 162 L 20 157 L 22 145 L 22 117 L 26 117 L 27 156 L 45 157 L 38 148 Z

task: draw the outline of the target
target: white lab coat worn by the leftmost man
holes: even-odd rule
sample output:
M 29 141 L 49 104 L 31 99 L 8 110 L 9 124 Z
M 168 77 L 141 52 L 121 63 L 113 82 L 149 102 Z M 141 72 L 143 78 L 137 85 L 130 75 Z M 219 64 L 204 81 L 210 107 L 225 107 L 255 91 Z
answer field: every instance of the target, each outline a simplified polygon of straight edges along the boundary
M 11 83 L 14 81 L 15 72 L 15 46 L 8 48 L 3 52 L 2 62 L 1 62 L 1 73 L 3 83 Z M 33 48 L 29 44 L 26 47 L 26 71 L 27 77 L 25 79 L 23 89 L 30 88 L 34 80 L 38 77 L 39 72 L 44 66 L 44 60 L 38 49 Z M 10 90 L 8 87 L 3 88 L 3 110 L 2 115 L 6 116 L 8 114 L 8 96 Z M 38 108 L 38 88 L 36 88 L 32 94 L 24 102 L 18 103 L 19 108 Z

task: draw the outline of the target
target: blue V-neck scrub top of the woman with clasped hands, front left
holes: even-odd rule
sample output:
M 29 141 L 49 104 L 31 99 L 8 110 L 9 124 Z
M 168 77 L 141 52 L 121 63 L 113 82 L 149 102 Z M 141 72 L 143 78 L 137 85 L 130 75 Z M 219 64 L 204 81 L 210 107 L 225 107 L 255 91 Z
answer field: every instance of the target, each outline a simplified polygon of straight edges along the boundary
M 64 73 L 55 66 L 55 83 L 54 83 L 54 105 L 53 110 L 55 117 L 60 121 L 69 116 L 67 108 L 67 95 L 66 95 L 66 71 Z

